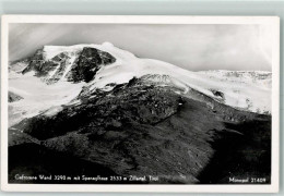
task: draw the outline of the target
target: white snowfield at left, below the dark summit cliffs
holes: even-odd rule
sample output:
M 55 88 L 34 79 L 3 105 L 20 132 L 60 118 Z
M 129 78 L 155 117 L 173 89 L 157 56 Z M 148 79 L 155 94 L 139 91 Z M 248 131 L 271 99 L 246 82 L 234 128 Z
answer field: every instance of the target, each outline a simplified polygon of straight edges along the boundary
M 40 78 L 35 77 L 33 72 L 24 75 L 10 72 L 9 91 L 23 99 L 9 103 L 9 126 L 43 112 L 46 112 L 47 115 L 55 114 L 56 111 L 60 111 L 61 105 L 75 98 L 84 85 L 85 83 L 68 82 L 47 85 Z M 49 109 L 54 112 L 47 112 Z

